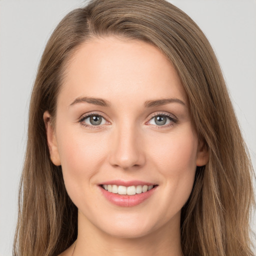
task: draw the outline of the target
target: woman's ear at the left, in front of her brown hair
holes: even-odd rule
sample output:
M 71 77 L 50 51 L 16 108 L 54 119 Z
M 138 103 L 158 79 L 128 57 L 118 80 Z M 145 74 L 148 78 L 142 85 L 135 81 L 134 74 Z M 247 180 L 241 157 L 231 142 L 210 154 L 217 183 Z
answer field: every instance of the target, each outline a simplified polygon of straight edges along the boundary
M 55 129 L 52 126 L 50 114 L 48 111 L 45 111 L 43 113 L 43 121 L 45 125 L 45 130 L 46 130 L 47 144 L 50 152 L 50 159 L 53 164 L 61 165 L 58 148 L 57 148 Z

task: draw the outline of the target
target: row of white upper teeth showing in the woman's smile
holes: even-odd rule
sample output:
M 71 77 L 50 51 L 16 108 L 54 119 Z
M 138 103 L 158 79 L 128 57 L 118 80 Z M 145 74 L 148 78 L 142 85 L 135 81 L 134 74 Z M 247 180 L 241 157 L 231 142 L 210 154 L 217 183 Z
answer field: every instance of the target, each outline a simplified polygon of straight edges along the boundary
M 128 195 L 133 195 L 133 194 L 139 194 L 139 193 L 144 193 L 150 189 L 153 188 L 153 185 L 137 185 L 137 186 L 117 186 L 117 185 L 103 185 L 103 188 L 107 190 L 108 192 L 112 193 L 118 193 L 118 194 L 128 194 Z

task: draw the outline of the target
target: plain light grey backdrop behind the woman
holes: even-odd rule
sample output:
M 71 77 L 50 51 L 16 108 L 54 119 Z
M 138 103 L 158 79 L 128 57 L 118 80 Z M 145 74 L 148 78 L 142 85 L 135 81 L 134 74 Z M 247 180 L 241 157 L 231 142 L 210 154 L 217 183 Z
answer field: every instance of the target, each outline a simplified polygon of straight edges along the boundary
M 256 1 L 170 0 L 211 42 L 256 166 Z M 82 0 L 0 0 L 0 256 L 10 256 L 31 87 L 44 45 Z M 234 212 L 235 214 L 235 212 Z M 251 226 L 256 231 L 256 216 Z M 254 222 L 254 223 L 253 223 Z

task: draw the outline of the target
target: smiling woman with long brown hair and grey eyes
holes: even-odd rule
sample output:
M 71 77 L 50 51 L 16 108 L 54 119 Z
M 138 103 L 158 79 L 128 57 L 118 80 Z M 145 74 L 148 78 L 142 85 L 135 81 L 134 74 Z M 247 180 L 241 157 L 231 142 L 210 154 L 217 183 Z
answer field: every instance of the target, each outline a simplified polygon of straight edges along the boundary
M 92 1 L 41 58 L 14 255 L 252 255 L 250 174 L 198 26 L 163 0 Z

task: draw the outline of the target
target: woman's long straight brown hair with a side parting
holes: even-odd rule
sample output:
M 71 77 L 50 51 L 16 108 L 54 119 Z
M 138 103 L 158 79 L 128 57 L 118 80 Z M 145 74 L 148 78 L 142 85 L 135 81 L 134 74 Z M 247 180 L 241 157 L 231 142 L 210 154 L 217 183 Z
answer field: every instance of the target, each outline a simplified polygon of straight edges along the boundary
M 164 0 L 92 0 L 53 31 L 38 67 L 29 107 L 25 162 L 13 255 L 53 256 L 76 239 L 77 208 L 49 157 L 43 112 L 54 117 L 65 66 L 91 37 L 146 41 L 172 62 L 193 125 L 209 151 L 181 212 L 183 255 L 253 255 L 249 214 L 252 166 L 215 54 L 199 27 Z

